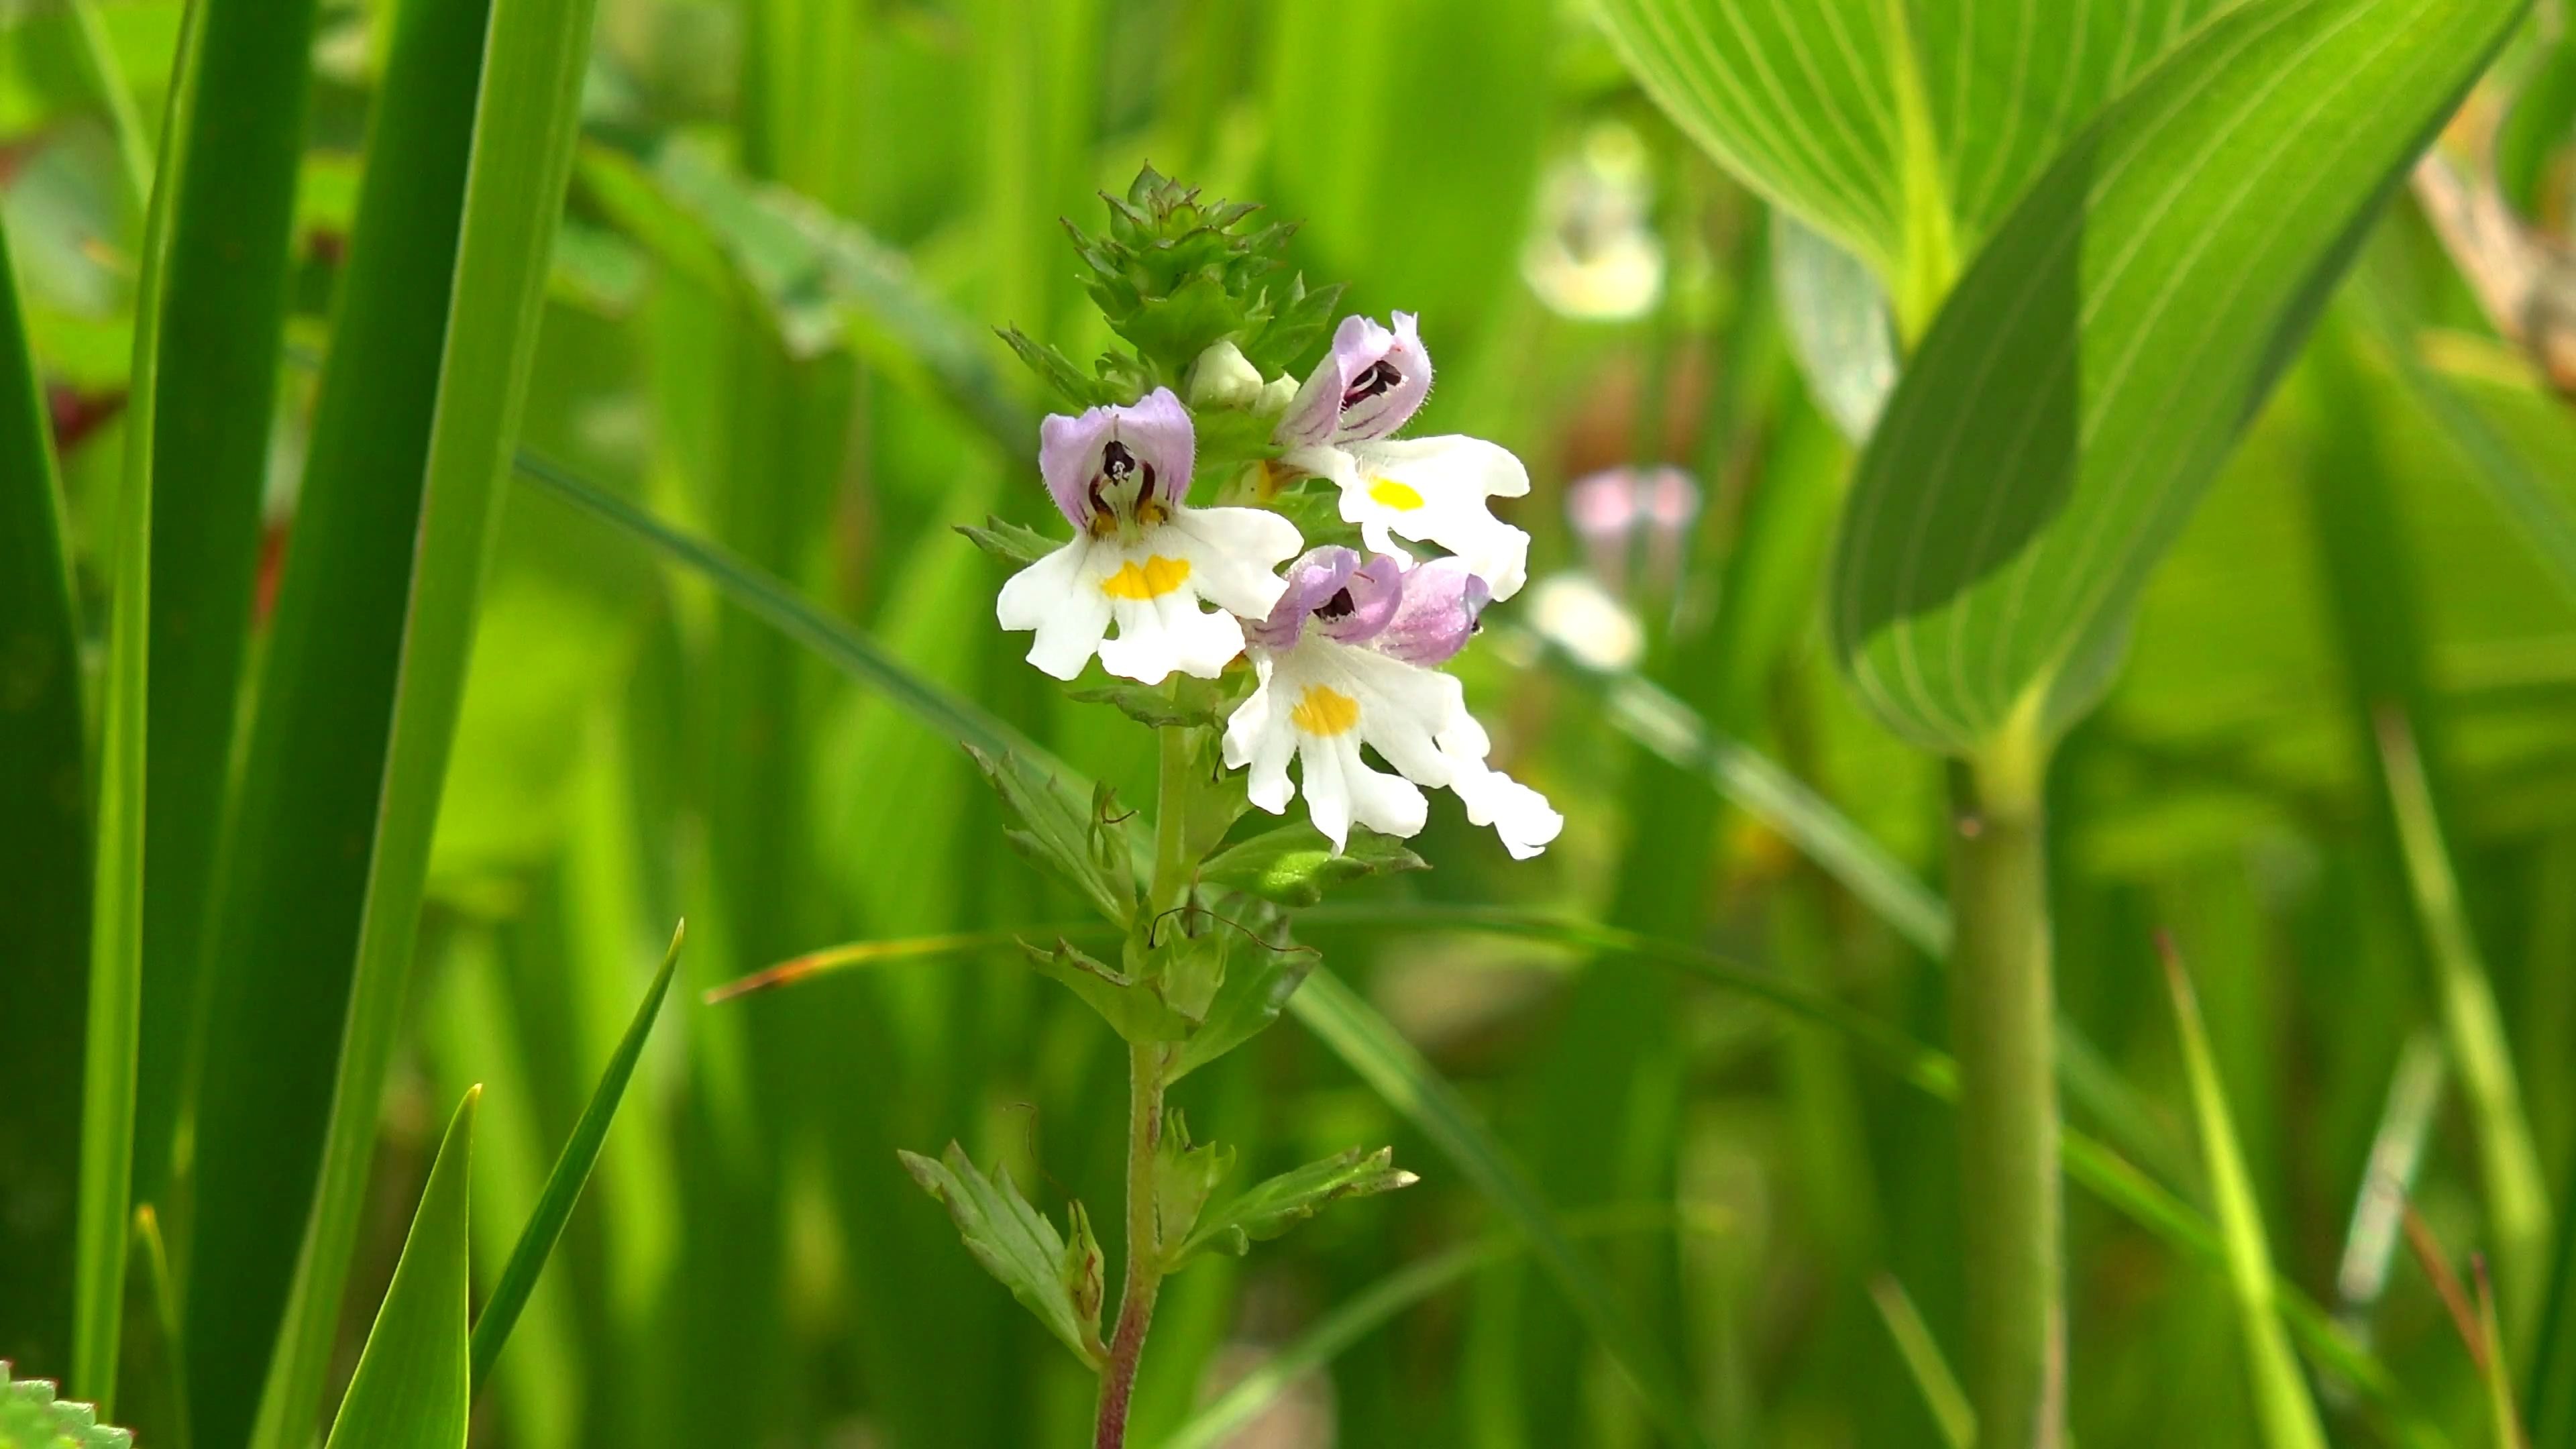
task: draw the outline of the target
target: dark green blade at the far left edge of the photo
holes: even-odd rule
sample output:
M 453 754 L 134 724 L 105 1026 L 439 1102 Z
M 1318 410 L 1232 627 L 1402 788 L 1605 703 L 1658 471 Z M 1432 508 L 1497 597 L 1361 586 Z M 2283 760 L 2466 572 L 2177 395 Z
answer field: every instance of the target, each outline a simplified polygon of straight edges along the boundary
M 0 222 L 0 1359 L 64 1364 L 90 972 L 90 789 L 80 619 L 44 382 Z

